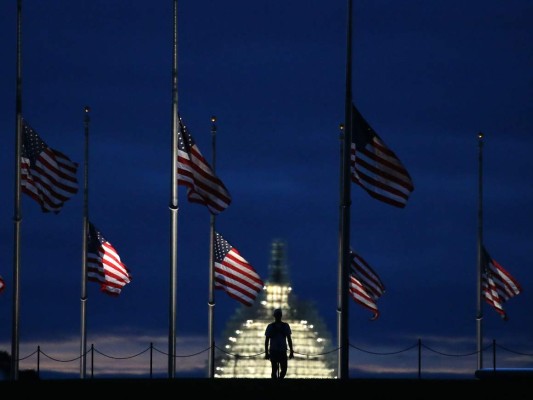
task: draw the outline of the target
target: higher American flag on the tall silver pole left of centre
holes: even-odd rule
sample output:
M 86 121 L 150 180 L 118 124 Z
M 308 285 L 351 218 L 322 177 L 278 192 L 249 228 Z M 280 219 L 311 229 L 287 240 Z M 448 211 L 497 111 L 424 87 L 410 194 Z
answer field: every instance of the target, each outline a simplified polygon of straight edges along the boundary
M 178 130 L 178 185 L 187 187 L 187 198 L 191 203 L 205 205 L 213 215 L 224 211 L 231 203 L 228 189 L 200 153 L 181 118 Z

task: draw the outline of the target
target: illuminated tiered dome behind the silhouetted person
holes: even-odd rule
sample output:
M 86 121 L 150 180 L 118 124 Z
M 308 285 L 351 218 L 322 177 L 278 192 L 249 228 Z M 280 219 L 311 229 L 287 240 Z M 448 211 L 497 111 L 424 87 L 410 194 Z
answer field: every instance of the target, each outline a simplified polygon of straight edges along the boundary
M 334 346 L 325 325 L 310 303 L 299 301 L 290 287 L 286 244 L 274 240 L 269 278 L 252 307 L 237 310 L 226 326 L 227 343 L 215 361 L 215 378 L 270 378 L 265 356 L 265 329 L 273 322 L 274 309 L 283 310 L 283 320 L 292 330 L 294 358 L 289 360 L 286 379 L 336 378 Z M 328 353 L 329 352 L 329 353 Z

